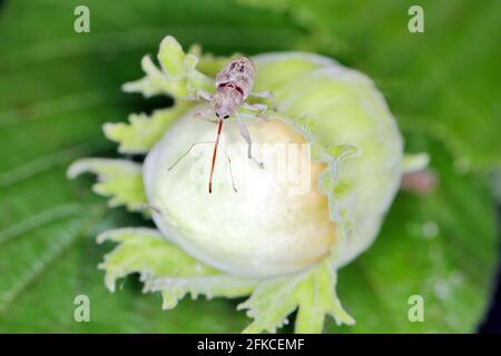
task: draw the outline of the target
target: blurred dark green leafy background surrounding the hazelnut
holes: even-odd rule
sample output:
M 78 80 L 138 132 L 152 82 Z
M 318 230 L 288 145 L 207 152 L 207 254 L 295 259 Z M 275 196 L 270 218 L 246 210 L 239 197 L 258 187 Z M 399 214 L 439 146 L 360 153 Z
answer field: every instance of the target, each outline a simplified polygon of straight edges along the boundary
M 73 9 L 90 9 L 90 33 Z M 424 9 L 424 33 L 407 9 Z M 145 225 L 107 210 L 69 162 L 114 157 L 106 121 L 167 106 L 120 92 L 166 34 L 187 48 L 254 55 L 304 50 L 367 73 L 397 119 L 406 151 L 428 151 L 439 186 L 400 194 L 373 247 L 343 268 L 338 294 L 357 324 L 326 332 L 465 333 L 484 318 L 498 260 L 491 174 L 501 167 L 501 2 L 337 0 L 3 1 L 0 6 L 0 332 L 237 333 L 236 300 L 183 300 L 160 310 L 128 278 L 105 289 L 98 231 Z M 73 320 L 90 297 L 91 322 Z M 407 298 L 422 295 L 424 323 Z

